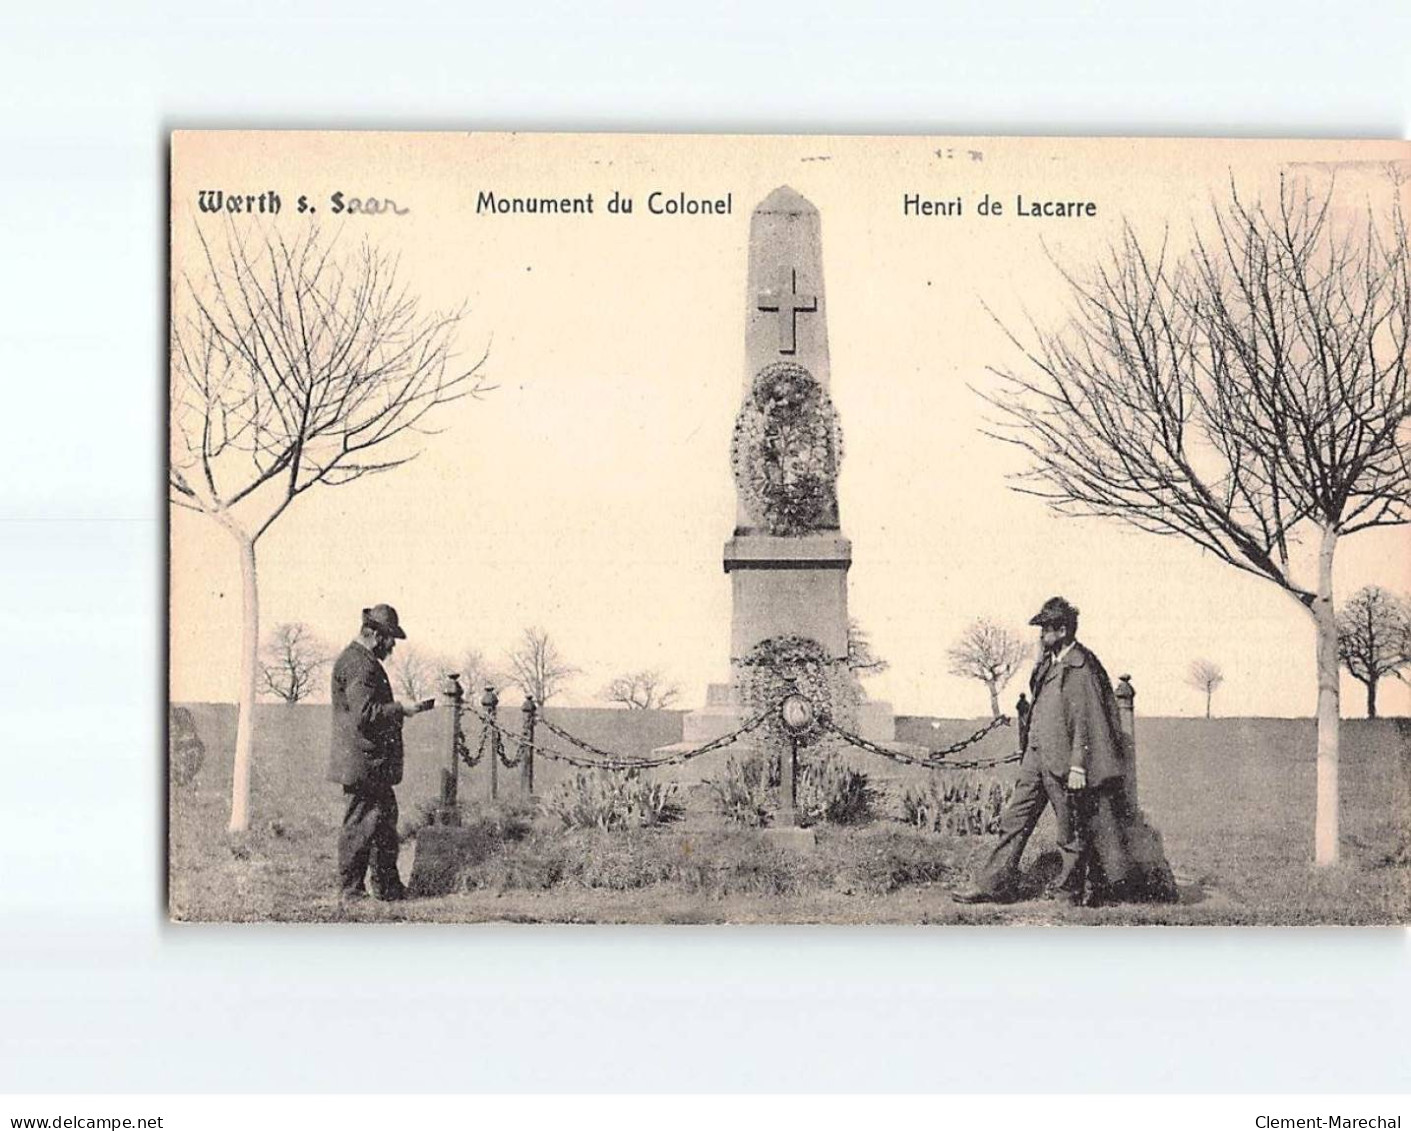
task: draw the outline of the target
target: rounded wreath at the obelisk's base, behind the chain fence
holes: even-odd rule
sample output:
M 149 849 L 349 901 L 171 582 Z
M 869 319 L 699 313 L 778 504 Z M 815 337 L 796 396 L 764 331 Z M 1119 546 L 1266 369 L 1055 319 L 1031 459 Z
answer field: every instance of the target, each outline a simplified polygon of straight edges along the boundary
M 800 746 L 814 746 L 828 732 L 821 718 L 831 718 L 844 729 L 856 723 L 861 687 L 848 667 L 847 657 L 834 657 L 807 636 L 770 636 L 748 654 L 731 661 L 739 701 L 749 716 L 776 707 L 786 695 L 804 695 L 813 702 L 813 722 L 799 738 Z M 790 733 L 777 711 L 770 711 L 759 729 L 770 753 L 789 749 Z

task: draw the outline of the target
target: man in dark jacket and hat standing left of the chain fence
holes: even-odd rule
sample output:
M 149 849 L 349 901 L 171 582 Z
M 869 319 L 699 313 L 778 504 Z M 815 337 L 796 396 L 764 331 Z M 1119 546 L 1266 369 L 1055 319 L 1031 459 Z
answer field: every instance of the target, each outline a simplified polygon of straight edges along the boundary
M 402 722 L 433 705 L 402 704 L 382 660 L 406 633 L 391 605 L 363 609 L 363 628 L 333 664 L 333 742 L 329 781 L 343 787 L 347 808 L 339 833 L 339 894 L 367 898 L 363 879 L 371 866 L 380 900 L 405 897 L 396 870 L 396 794 L 402 780 Z

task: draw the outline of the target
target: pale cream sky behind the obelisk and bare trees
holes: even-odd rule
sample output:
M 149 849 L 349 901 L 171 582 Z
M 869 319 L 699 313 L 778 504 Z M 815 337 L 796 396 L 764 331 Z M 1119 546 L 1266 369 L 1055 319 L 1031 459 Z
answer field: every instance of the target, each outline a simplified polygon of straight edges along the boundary
M 293 502 L 260 543 L 265 628 L 302 620 L 336 646 L 360 608 L 387 601 L 419 647 L 495 659 L 538 625 L 581 668 L 564 705 L 601 702 L 636 668 L 660 668 L 680 707 L 701 705 L 728 678 L 721 550 L 749 213 L 787 183 L 821 214 L 849 611 L 890 664 L 869 692 L 897 714 L 985 714 L 988 692 L 948 673 L 947 649 L 979 616 L 1031 636 L 1029 616 L 1062 594 L 1109 671 L 1132 674 L 1139 712 L 1204 714 L 1185 673 L 1208 659 L 1225 673 L 1216 714 L 1311 715 L 1312 622 L 1288 594 L 1184 540 L 1058 518 L 1015 492 L 1019 454 L 982 434 L 976 389 L 1017 361 L 1000 323 L 1057 324 L 1055 264 L 1091 265 L 1123 221 L 1181 241 L 1230 178 L 1257 193 L 1288 171 L 1336 169 L 1339 200 L 1386 204 L 1394 159 L 1408 161 L 1405 142 L 183 134 L 172 262 L 179 282 L 198 226 L 301 231 L 303 195 L 337 247 L 375 241 L 428 307 L 464 303 L 460 348 L 485 353 L 495 386 L 446 406 L 412 464 Z M 200 189 L 272 189 L 284 207 L 227 221 L 198 212 Z M 477 214 L 483 190 L 591 192 L 595 212 Z M 635 200 L 631 216 L 605 212 L 614 190 Z M 405 213 L 333 216 L 334 192 Z M 652 216 L 652 192 L 728 193 L 732 210 Z M 907 216 L 913 193 L 959 196 L 964 213 Z M 1002 216 L 978 213 L 986 195 Z M 1022 217 L 1017 196 L 1091 200 L 1096 216 Z M 171 539 L 171 695 L 233 701 L 234 543 L 181 511 Z M 1348 539 L 1338 592 L 1411 589 L 1408 542 L 1405 529 Z M 1380 708 L 1411 709 L 1405 685 L 1386 681 Z M 1345 677 L 1343 714 L 1362 709 Z

